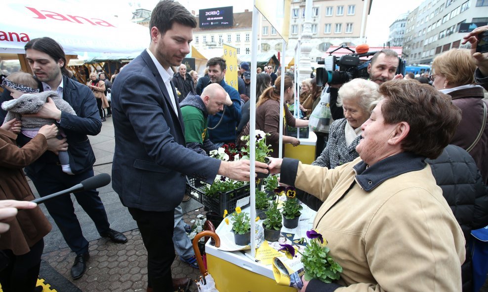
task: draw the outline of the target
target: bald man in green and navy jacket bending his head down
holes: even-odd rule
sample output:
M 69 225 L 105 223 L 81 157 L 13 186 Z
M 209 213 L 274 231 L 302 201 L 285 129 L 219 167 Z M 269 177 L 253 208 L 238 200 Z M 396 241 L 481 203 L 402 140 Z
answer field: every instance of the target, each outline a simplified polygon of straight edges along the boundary
M 223 111 L 224 105 L 231 106 L 232 100 L 218 83 L 205 87 L 201 96 L 188 95 L 181 101 L 187 148 L 207 156 L 218 148 L 208 139 L 207 117 Z

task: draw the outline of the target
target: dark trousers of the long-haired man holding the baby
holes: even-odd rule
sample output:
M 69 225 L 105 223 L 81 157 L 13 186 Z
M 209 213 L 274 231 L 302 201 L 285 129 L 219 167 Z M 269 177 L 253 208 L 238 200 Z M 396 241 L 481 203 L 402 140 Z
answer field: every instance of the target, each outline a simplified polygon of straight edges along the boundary
M 93 176 L 93 168 L 83 173 L 69 175 L 56 164 L 46 166 L 35 175 L 29 173 L 29 177 L 36 186 L 39 195 L 50 195 L 69 189 L 81 181 Z M 98 233 L 109 231 L 110 224 L 103 206 L 102 200 L 96 190 L 83 191 L 74 194 L 83 210 L 90 216 Z M 88 241 L 83 237 L 80 222 L 75 214 L 75 207 L 70 195 L 64 195 L 44 203 L 47 211 L 56 222 L 63 234 L 64 240 L 77 255 L 88 251 Z

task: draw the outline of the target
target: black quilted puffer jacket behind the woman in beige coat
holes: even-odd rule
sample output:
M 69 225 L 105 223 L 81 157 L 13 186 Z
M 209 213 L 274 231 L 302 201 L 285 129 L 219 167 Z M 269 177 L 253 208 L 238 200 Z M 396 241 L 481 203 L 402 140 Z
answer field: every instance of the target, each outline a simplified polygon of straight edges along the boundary
M 471 230 L 488 225 L 488 194 L 475 161 L 465 150 L 448 145 L 431 166 L 437 185 L 461 226 L 466 239 L 466 260 L 461 266 L 463 292 L 472 292 Z

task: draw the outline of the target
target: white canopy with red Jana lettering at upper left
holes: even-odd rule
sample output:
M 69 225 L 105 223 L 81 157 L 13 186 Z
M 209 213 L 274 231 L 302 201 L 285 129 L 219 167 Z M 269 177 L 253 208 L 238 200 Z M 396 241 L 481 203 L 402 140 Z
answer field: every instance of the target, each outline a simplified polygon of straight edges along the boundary
M 2 0 L 0 53 L 24 54 L 25 44 L 49 36 L 67 55 L 77 52 L 140 53 L 150 42 L 149 29 L 108 16 L 102 2 L 83 6 L 63 0 Z

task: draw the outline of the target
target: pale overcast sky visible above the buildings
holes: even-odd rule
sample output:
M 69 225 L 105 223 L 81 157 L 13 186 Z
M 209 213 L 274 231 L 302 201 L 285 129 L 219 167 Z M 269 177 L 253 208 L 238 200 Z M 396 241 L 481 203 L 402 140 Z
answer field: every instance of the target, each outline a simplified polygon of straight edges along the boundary
M 189 10 L 198 11 L 199 9 L 230 6 L 230 3 L 234 6 L 234 12 L 243 12 L 244 9 L 252 9 L 252 0 L 235 0 L 229 2 L 228 0 L 178 0 L 185 5 Z M 371 12 L 367 18 L 366 24 L 366 36 L 367 43 L 370 46 L 382 45 L 388 40 L 388 33 L 390 32 L 390 25 L 395 19 L 402 13 L 412 11 L 424 0 L 408 0 L 408 1 L 396 1 L 396 0 L 373 0 Z M 130 18 L 132 16 L 131 11 L 137 8 L 144 8 L 152 10 L 158 0 L 137 0 L 137 1 L 124 1 L 124 0 L 106 0 L 104 1 L 104 7 L 107 9 L 117 9 L 113 11 L 117 13 L 121 18 Z M 130 3 L 130 5 L 129 5 Z M 362 13 L 362 11 L 356 10 L 356 13 Z

